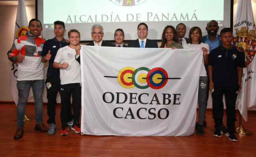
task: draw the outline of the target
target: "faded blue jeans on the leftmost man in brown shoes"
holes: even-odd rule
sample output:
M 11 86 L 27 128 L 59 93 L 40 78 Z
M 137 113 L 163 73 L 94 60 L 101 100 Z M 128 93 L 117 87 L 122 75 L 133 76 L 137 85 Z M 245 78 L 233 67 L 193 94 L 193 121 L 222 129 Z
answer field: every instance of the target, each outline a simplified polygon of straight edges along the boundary
M 40 124 L 43 122 L 42 114 L 43 114 L 43 91 L 45 87 L 45 80 L 24 80 L 17 81 L 18 95 L 19 101 L 17 104 L 17 128 L 22 127 L 24 125 L 24 116 L 26 111 L 26 102 L 28 100 L 28 95 L 30 91 L 30 87 L 32 87 L 33 96 L 35 99 L 35 121 L 36 124 Z

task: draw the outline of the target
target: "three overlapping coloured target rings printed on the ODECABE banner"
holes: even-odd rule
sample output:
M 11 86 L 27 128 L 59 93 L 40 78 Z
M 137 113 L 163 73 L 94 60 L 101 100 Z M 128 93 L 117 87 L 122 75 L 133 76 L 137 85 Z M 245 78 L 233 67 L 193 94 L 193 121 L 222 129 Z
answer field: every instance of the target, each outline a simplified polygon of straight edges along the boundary
M 146 67 L 133 68 L 124 67 L 118 75 L 117 80 L 124 88 L 160 89 L 165 86 L 168 81 L 168 74 L 163 68 L 148 69 Z

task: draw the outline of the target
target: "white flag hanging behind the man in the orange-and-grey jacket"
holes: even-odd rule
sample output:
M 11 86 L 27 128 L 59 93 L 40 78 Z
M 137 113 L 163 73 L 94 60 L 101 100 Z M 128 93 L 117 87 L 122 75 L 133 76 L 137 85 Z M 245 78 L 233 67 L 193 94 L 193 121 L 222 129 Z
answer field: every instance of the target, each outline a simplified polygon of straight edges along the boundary
M 26 13 L 26 7 L 24 0 L 19 0 L 17 15 L 16 15 L 16 23 L 15 23 L 15 31 L 14 31 L 14 40 L 17 37 L 25 35 L 28 31 L 28 17 Z M 11 97 L 13 98 L 15 104 L 18 103 L 18 89 L 17 89 L 17 68 L 18 63 L 12 63 L 11 66 L 11 82 L 10 82 L 10 91 Z M 30 92 L 32 93 L 32 92 Z

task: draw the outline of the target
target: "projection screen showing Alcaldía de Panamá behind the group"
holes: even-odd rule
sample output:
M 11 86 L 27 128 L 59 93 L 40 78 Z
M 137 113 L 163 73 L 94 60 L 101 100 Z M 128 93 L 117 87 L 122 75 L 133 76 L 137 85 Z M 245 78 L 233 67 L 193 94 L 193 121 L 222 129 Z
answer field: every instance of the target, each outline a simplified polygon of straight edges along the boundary
M 54 21 L 65 22 L 67 32 L 78 29 L 82 41 L 92 40 L 91 27 L 104 28 L 104 40 L 113 40 L 114 31 L 122 28 L 125 40 L 137 39 L 137 25 L 148 25 L 148 38 L 161 40 L 167 25 L 184 23 L 189 29 L 198 26 L 206 35 L 206 24 L 217 20 L 219 32 L 230 27 L 231 0 L 37 0 L 38 19 L 43 24 L 43 37 L 54 37 Z M 67 38 L 67 33 L 65 33 Z

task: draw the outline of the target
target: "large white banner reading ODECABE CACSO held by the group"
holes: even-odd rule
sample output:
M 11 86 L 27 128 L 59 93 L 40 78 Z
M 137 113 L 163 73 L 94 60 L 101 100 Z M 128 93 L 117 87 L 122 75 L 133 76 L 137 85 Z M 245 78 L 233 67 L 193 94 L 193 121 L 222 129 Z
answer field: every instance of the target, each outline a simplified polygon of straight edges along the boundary
M 82 46 L 80 54 L 82 134 L 195 132 L 201 49 Z

